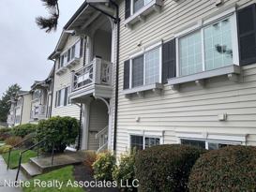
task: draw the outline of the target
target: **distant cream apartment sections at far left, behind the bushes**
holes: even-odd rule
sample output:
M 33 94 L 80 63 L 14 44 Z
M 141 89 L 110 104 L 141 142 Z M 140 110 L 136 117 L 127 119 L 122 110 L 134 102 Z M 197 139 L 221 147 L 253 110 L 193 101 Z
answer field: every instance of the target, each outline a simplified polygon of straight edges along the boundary
M 53 69 L 45 81 L 35 81 L 30 91 L 20 91 L 10 99 L 8 126 L 38 124 L 51 117 L 53 94 Z

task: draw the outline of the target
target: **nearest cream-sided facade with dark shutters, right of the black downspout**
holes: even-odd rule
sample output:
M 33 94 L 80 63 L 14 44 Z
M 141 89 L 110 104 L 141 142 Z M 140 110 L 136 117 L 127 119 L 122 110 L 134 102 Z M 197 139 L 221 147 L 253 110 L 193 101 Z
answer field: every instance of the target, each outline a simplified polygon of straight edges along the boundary
M 120 1 L 117 155 L 256 145 L 255 1 Z

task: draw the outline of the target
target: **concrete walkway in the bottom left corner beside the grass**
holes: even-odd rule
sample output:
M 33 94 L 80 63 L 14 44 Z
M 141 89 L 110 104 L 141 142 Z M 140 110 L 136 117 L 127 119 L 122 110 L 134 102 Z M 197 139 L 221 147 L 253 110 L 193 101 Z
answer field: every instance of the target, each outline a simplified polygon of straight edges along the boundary
M 16 187 L 8 187 L 5 186 L 5 181 L 12 183 L 15 181 L 17 170 L 7 170 L 7 164 L 0 155 L 0 191 L 4 192 L 21 192 L 21 188 Z M 19 180 L 25 181 L 25 177 L 23 176 L 23 173 L 20 172 Z

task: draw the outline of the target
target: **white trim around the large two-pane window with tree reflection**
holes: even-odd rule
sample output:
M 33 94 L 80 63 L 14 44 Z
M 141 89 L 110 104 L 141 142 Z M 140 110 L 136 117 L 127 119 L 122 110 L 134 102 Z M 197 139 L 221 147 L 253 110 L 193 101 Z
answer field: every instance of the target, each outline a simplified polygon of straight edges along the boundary
M 179 62 L 179 38 L 185 37 L 190 33 L 196 32 L 197 30 L 200 30 L 202 33 L 202 62 L 203 62 L 203 72 L 205 72 L 205 61 L 204 61 L 204 38 L 203 38 L 203 29 L 205 26 L 219 22 L 225 18 L 231 18 L 231 25 L 232 25 L 232 31 L 237 31 L 237 22 L 236 22 L 236 12 L 235 8 L 228 9 L 216 16 L 213 16 L 210 19 L 207 20 L 200 20 L 195 24 L 194 26 L 191 26 L 184 31 L 174 35 L 176 37 L 175 41 L 175 47 L 176 47 L 176 77 L 183 77 L 180 73 L 180 62 Z M 238 38 L 237 33 L 232 33 L 232 43 L 233 43 L 233 65 L 239 66 L 239 52 L 238 52 Z M 190 74 L 193 75 L 193 74 Z

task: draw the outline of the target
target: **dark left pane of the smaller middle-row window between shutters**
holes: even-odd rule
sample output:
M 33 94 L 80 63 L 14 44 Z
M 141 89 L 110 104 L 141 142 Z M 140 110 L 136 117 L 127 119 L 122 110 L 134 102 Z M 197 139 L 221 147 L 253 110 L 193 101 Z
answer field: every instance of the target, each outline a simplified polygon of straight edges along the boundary
M 132 87 L 143 85 L 143 55 L 132 60 Z

